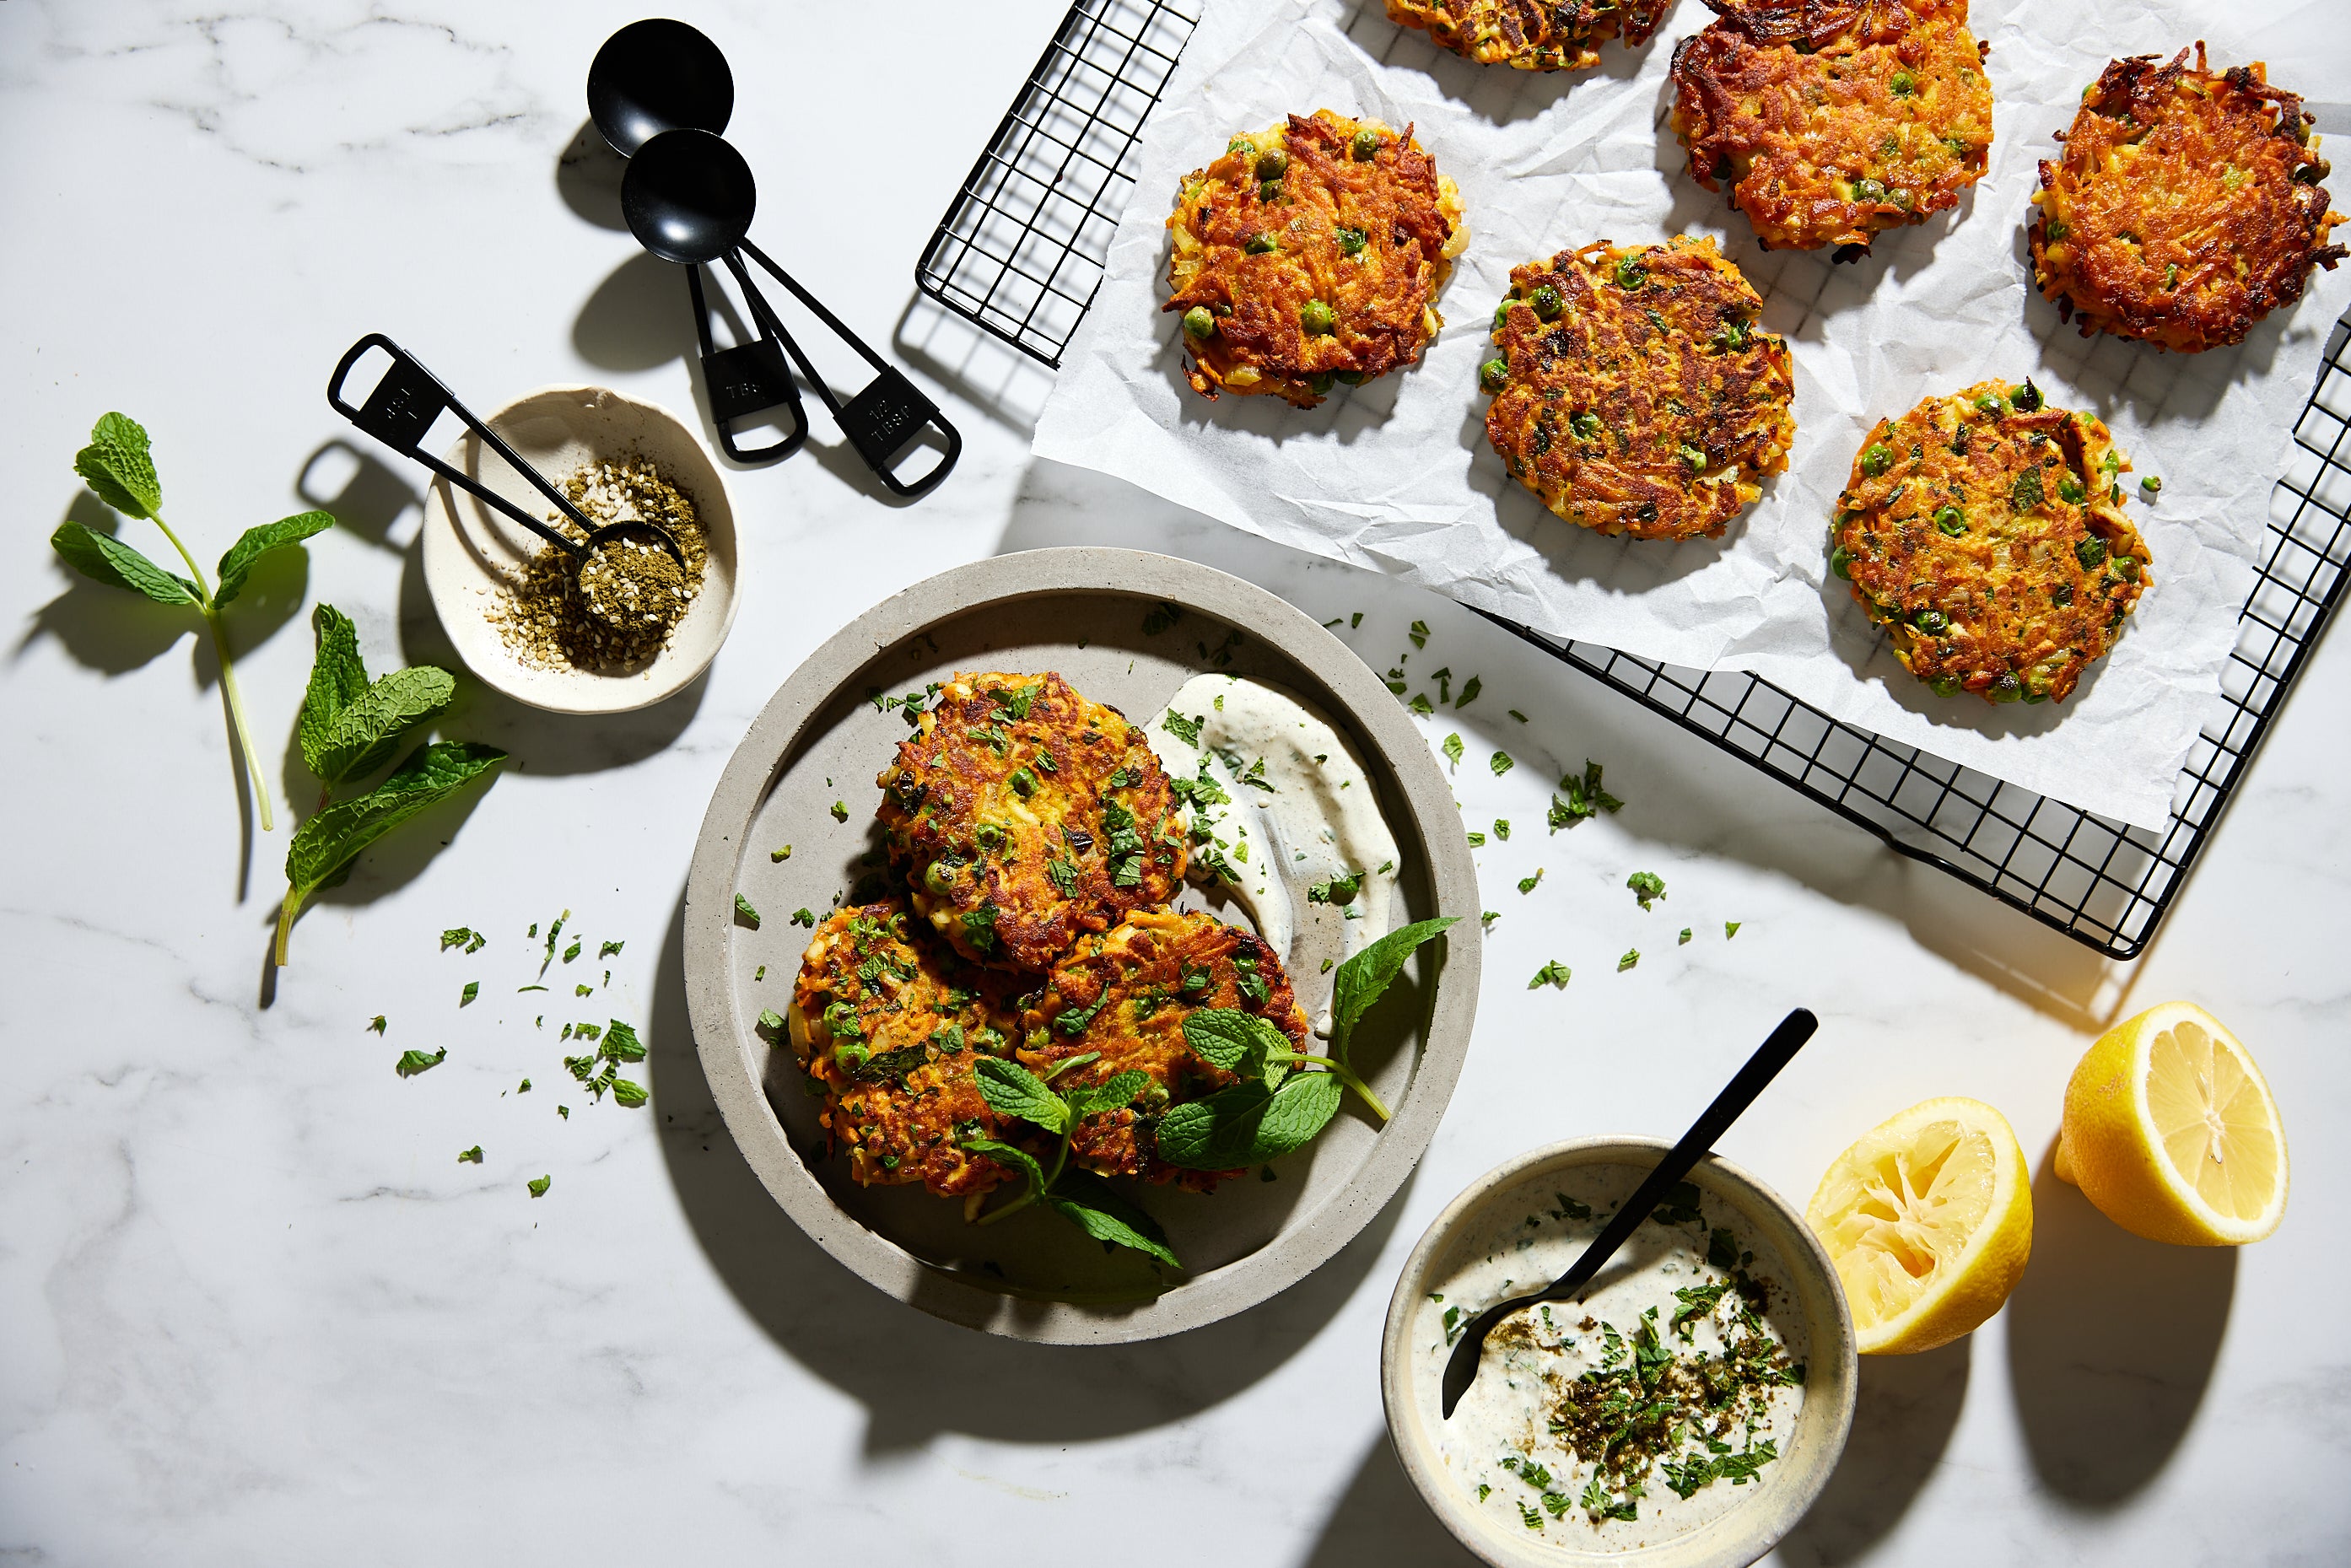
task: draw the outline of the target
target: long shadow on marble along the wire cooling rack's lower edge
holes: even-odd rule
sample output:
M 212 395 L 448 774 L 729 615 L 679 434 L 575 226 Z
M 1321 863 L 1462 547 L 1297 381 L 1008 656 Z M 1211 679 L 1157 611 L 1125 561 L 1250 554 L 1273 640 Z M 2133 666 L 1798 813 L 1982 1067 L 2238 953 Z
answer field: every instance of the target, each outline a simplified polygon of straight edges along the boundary
M 1333 585 L 1321 599 L 1324 609 L 1361 607 L 1373 602 L 1373 592 L 1418 599 L 1413 609 L 1396 604 L 1404 618 L 1425 614 L 1420 607 L 1427 607 L 1427 597 L 1404 583 L 1366 583 L 1357 567 L 1230 529 L 1124 480 L 1039 458 L 1030 463 L 997 552 L 1049 545 L 1176 552 L 1291 592 L 1312 574 Z M 1486 689 L 1495 696 L 1505 691 L 1498 672 L 1516 670 L 1507 679 L 1512 696 L 1505 701 L 1528 715 L 1528 726 L 1512 726 L 1512 736 L 1486 731 L 1488 738 L 1507 741 L 1521 759 L 1533 741 L 1559 769 L 1578 766 L 1585 757 L 1601 759 L 1610 785 L 1636 804 L 1613 818 L 1617 827 L 1660 844 L 1735 858 L 1867 907 L 1902 924 L 1918 945 L 2067 1027 L 2104 1030 L 2121 1016 L 2132 966 L 2114 964 L 1949 875 L 1897 856 L 1876 835 L 1824 809 L 1799 804 L 1801 797 L 1761 778 L 1744 762 L 1580 670 L 1545 658 L 1500 625 L 1460 607 L 1451 616 L 1451 625 L 1444 625 L 1451 665 L 1465 668 L 1467 658 L 1481 668 Z M 1465 729 L 1500 719 L 1500 712 L 1462 715 Z

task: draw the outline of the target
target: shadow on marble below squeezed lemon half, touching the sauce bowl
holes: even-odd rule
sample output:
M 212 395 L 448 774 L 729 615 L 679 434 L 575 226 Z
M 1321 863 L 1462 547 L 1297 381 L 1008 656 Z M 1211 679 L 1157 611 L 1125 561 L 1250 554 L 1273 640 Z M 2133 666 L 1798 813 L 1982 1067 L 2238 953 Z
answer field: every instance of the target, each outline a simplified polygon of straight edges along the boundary
M 1972 1345 L 1970 1335 L 1916 1356 L 1862 1356 L 1853 1436 L 1829 1488 L 1780 1542 L 1782 1561 L 1836 1568 L 1893 1535 L 1951 1446 Z

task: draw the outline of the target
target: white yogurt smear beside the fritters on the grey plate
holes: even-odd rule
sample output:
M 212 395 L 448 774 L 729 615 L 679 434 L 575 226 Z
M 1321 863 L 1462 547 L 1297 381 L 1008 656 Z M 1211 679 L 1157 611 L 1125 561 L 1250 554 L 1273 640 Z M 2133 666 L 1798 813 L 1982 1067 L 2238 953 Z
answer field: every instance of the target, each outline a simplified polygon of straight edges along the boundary
M 1321 712 L 1265 682 L 1197 675 L 1143 733 L 1171 778 L 1213 785 L 1185 806 L 1192 877 L 1232 893 L 1284 964 L 1307 903 L 1340 910 L 1340 957 L 1387 936 L 1396 835 L 1364 759 Z M 1331 891 L 1349 879 L 1352 896 Z

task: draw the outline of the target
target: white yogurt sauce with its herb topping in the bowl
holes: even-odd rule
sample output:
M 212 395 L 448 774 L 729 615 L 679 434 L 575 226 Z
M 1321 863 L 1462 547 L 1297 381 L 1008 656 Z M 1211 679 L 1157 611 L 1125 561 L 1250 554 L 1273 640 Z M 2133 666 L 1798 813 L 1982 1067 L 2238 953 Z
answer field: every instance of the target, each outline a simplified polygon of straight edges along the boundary
M 1683 1182 L 1580 1305 L 1502 1321 L 1444 1420 L 1458 1324 L 1563 1274 L 1643 1175 L 1580 1166 L 1495 1194 L 1413 1316 L 1413 1389 L 1453 1483 L 1495 1523 L 1578 1552 L 1653 1547 L 1735 1509 L 1770 1486 L 1803 1410 L 1808 1342 L 1780 1255 Z

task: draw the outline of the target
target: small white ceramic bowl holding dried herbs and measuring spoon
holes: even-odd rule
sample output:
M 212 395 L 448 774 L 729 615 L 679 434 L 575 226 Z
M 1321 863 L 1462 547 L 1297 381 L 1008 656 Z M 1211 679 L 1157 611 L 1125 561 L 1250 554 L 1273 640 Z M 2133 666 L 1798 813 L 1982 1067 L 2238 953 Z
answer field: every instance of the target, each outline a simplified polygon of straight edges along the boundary
M 505 646 L 489 614 L 498 609 L 505 583 L 520 574 L 522 562 L 545 548 L 545 541 L 447 480 L 435 480 L 426 496 L 426 590 L 465 668 L 517 703 L 548 712 L 649 708 L 708 670 L 734 628 L 736 536 L 726 480 L 701 437 L 668 409 L 600 386 L 541 388 L 513 400 L 487 423 L 557 487 L 583 463 L 630 454 L 654 458 L 663 475 L 694 498 L 708 543 L 708 567 L 703 590 L 670 635 L 670 646 L 642 670 L 597 675 L 541 668 Z M 552 510 L 548 498 L 480 437 L 468 433 L 444 456 L 451 468 L 484 482 L 534 517 Z

